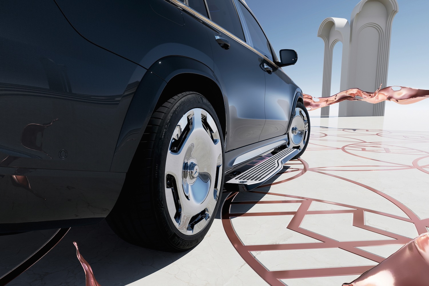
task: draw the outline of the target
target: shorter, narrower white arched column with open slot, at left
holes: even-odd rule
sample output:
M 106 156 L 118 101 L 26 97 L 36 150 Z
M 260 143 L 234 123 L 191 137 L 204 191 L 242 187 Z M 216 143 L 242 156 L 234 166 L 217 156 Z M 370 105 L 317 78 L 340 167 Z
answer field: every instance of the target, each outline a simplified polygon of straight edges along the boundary
M 347 89 L 348 54 L 350 44 L 350 25 L 344 18 L 326 18 L 320 24 L 317 36 L 323 39 L 325 51 L 323 54 L 322 97 L 331 96 L 332 53 L 337 42 L 343 43 L 341 57 L 340 89 Z M 329 106 L 323 107 L 320 116 L 329 116 Z

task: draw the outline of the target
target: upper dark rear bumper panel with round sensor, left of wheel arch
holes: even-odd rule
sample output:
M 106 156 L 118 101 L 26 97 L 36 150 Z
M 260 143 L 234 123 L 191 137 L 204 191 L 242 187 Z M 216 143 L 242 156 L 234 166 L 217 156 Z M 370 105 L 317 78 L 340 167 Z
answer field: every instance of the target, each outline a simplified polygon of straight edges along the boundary
M 0 166 L 109 172 L 146 70 L 83 39 L 53 1 L 0 5 Z

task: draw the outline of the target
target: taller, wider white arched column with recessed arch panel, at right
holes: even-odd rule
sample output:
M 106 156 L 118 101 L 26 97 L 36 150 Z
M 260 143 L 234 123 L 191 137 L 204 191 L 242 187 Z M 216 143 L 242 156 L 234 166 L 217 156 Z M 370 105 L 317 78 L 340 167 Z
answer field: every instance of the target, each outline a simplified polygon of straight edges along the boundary
M 347 88 L 357 87 L 374 92 L 380 84 L 386 87 L 390 35 L 397 12 L 396 0 L 362 0 L 353 9 Z M 385 102 L 373 105 L 360 101 L 343 101 L 340 102 L 338 115 L 383 116 L 384 105 Z

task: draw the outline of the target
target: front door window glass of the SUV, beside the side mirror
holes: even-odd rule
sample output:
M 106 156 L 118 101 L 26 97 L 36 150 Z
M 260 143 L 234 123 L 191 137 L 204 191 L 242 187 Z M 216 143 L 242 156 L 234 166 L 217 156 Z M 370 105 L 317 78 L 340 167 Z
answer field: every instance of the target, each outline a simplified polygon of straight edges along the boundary
M 268 39 L 266 38 L 264 32 L 262 31 L 256 19 L 249 12 L 249 10 L 241 2 L 239 3 L 249 30 L 250 37 L 252 39 L 253 47 L 258 51 L 260 51 L 263 55 L 268 57 L 270 60 L 273 60 L 272 54 L 271 54 L 271 48 L 269 46 Z

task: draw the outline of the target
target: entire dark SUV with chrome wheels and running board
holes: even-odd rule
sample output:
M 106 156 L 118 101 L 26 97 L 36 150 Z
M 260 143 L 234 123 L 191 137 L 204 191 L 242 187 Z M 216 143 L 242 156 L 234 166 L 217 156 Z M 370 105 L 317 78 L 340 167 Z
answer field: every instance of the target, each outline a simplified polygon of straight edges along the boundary
M 0 57 L 3 234 L 107 216 L 133 244 L 187 250 L 225 178 L 250 190 L 308 144 L 281 70 L 296 52 L 278 60 L 242 0 L 2 0 Z

